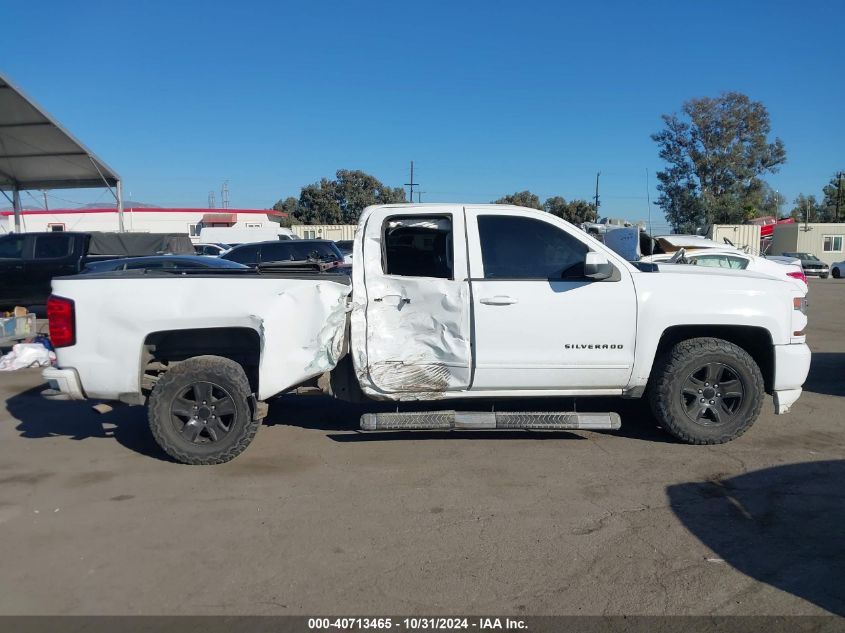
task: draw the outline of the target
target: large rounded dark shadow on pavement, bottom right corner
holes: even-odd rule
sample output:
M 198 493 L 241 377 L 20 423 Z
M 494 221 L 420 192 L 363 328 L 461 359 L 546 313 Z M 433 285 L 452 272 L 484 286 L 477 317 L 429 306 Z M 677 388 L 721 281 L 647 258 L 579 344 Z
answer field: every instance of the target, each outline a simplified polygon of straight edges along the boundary
M 845 615 L 845 460 L 669 486 L 681 523 L 751 578 Z

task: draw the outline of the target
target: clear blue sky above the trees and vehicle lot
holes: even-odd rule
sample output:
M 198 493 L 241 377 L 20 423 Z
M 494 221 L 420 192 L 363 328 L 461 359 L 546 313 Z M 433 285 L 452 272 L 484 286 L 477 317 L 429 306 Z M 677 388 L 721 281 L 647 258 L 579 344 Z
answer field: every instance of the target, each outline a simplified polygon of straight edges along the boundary
M 263 208 L 339 168 L 401 185 L 413 159 L 424 201 L 588 198 L 601 171 L 602 214 L 643 218 L 649 135 L 695 96 L 768 107 L 790 201 L 845 168 L 842 20 L 812 0 L 16 2 L 0 69 L 134 200 L 205 206 L 228 179 Z

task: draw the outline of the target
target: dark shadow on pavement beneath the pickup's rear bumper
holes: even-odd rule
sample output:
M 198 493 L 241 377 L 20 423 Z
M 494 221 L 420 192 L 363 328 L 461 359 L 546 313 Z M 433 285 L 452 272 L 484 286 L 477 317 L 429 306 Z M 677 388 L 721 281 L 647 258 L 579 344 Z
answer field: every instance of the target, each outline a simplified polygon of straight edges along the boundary
M 6 400 L 6 410 L 18 420 L 15 429 L 21 437 L 113 438 L 136 453 L 172 461 L 153 439 L 144 407 L 119 406 L 109 413 L 97 413 L 91 402 L 46 400 L 40 395 L 45 387 L 40 385 Z

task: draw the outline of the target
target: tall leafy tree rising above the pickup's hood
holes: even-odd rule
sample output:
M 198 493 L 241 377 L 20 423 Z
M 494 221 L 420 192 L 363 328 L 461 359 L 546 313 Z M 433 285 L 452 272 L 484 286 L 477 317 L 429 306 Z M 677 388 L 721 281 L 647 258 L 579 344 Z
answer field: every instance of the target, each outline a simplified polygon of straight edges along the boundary
M 738 223 L 760 214 L 765 173 L 786 162 L 783 142 L 768 141 L 769 113 L 738 92 L 684 103 L 652 135 L 667 167 L 657 173 L 658 204 L 676 230 Z

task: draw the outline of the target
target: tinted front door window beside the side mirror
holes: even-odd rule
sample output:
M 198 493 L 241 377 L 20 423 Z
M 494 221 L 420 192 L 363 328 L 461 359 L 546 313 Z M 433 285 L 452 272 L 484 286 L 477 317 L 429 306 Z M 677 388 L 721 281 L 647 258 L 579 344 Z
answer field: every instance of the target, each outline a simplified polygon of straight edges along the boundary
M 485 279 L 581 279 L 586 244 L 548 222 L 478 216 Z

